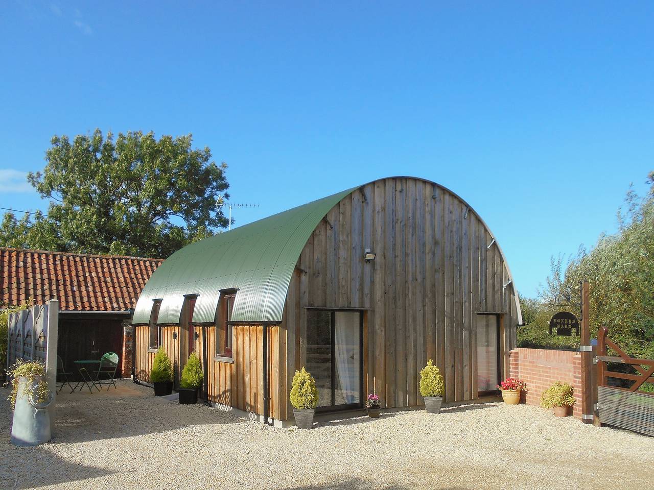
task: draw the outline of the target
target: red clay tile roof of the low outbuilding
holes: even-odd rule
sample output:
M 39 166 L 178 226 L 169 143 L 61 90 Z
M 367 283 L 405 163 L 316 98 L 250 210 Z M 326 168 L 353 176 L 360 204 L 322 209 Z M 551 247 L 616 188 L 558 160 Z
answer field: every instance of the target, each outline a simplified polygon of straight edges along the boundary
M 60 310 L 126 311 L 163 259 L 0 247 L 0 301 L 59 300 Z

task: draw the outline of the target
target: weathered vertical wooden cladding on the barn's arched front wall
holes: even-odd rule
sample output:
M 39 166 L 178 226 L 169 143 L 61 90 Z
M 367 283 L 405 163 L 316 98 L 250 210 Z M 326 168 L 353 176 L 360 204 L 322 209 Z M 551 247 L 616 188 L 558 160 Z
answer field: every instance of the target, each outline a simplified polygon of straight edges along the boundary
M 307 241 L 290 282 L 280 329 L 288 361 L 277 395 L 288 399 L 304 365 L 305 306 L 320 306 L 367 311 L 366 389 L 388 407 L 422 404 L 419 372 L 428 358 L 445 376 L 447 400 L 477 398 L 476 312 L 506 312 L 504 325 L 517 323 L 513 284 L 504 288 L 508 270 L 491 241 L 467 204 L 430 182 L 377 180 L 345 197 Z M 377 254 L 371 263 L 366 248 Z M 288 402 L 280 406 L 282 418 L 290 415 Z

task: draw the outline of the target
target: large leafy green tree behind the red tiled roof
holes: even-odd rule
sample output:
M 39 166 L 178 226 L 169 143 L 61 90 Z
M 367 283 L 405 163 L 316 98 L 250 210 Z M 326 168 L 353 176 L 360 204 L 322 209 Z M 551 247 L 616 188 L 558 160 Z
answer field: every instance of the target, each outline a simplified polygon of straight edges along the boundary
M 215 205 L 227 166 L 192 136 L 141 131 L 55 136 L 43 172 L 27 179 L 50 200 L 47 215 L 5 214 L 0 245 L 62 252 L 168 257 L 228 220 Z

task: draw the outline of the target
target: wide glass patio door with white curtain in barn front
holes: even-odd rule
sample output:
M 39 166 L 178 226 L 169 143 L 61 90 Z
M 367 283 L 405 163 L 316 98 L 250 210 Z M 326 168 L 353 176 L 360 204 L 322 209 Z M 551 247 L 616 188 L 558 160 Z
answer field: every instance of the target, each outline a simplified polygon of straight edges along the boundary
M 307 370 L 316 380 L 318 409 L 362 406 L 361 312 L 307 310 Z

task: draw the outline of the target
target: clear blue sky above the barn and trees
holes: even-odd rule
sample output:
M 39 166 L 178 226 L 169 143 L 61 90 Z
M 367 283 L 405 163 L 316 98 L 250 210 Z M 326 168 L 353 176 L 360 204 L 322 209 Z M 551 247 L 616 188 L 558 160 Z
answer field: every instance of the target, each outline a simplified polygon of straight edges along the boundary
M 534 295 L 654 169 L 654 3 L 75 2 L 0 8 L 0 206 L 52 135 L 192 133 L 237 224 L 390 175 L 470 203 Z

